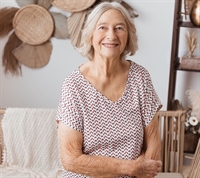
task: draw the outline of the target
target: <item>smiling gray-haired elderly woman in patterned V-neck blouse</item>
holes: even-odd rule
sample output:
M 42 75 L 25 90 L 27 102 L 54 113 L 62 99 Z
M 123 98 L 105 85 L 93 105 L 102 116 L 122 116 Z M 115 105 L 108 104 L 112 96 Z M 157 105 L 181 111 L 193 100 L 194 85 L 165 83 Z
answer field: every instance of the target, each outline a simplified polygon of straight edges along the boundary
M 126 9 L 95 7 L 78 50 L 89 60 L 65 79 L 57 113 L 62 177 L 156 176 L 161 103 L 147 70 L 125 58 L 137 50 Z

